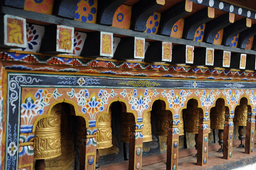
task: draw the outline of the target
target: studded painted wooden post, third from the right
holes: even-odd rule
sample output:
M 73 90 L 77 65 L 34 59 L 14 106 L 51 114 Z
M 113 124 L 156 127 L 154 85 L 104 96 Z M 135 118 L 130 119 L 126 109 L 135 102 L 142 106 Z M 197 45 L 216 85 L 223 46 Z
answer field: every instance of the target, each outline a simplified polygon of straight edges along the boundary
M 209 133 L 208 120 L 208 116 L 199 116 L 197 164 L 200 166 L 207 165 Z

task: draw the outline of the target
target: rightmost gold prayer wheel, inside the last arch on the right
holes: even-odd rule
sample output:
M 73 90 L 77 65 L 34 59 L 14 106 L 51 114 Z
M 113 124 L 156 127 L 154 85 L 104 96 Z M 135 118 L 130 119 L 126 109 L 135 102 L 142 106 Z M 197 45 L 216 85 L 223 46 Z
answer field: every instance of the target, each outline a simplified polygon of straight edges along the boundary
M 247 105 L 236 106 L 235 116 L 233 119 L 234 125 L 246 126 L 247 110 L 248 110 Z

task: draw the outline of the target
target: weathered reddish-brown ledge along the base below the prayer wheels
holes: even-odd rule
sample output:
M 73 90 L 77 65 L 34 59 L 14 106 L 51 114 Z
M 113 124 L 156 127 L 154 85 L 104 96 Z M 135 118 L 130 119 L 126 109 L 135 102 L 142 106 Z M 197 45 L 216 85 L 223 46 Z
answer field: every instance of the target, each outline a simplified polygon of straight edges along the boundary
M 247 165 L 250 170 L 256 170 L 251 168 L 256 167 L 256 146 L 254 153 L 249 155 L 244 153 L 244 148 L 238 147 L 239 140 L 234 140 L 233 143 L 236 146 L 233 147 L 233 158 L 229 160 L 223 159 L 223 154 L 217 152 L 218 144 L 209 145 L 208 164 L 202 167 L 196 164 L 196 150 L 194 148 L 179 150 L 177 170 L 233 170 Z M 143 157 L 142 164 L 142 170 L 166 170 L 166 153 Z M 128 170 L 128 161 L 102 165 L 100 170 Z

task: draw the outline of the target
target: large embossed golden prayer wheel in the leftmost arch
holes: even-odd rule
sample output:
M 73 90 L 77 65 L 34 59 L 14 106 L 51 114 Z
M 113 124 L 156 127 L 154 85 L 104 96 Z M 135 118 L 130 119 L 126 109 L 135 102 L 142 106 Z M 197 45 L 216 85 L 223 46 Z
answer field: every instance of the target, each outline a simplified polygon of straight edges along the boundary
M 49 117 L 39 120 L 35 128 L 34 159 L 61 155 L 61 105 L 52 108 Z M 52 114 L 53 113 L 53 114 Z

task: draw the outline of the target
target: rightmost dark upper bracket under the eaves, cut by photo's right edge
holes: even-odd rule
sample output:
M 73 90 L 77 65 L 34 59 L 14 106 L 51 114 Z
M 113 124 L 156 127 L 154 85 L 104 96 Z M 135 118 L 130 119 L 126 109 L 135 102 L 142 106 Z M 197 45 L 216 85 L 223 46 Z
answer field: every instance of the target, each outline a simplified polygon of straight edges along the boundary
M 246 48 L 247 41 L 250 37 L 256 35 L 256 25 L 254 24 L 251 28 L 248 28 L 239 33 L 238 47 Z

